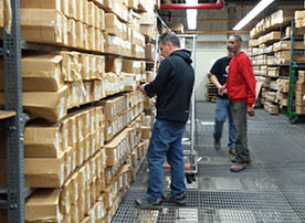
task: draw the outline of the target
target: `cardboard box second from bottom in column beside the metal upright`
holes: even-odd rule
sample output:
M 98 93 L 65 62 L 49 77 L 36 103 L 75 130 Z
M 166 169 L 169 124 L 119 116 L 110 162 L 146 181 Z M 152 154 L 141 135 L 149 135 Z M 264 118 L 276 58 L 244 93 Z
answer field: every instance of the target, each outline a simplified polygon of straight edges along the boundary
M 61 188 L 65 180 L 64 152 L 57 159 L 25 158 L 24 176 L 25 176 L 25 187 Z

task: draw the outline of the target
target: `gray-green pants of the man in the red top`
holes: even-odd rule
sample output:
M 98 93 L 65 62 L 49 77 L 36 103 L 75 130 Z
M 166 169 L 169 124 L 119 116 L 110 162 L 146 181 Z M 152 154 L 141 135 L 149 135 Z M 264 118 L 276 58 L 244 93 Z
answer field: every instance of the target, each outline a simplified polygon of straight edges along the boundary
M 236 131 L 236 158 L 239 163 L 250 159 L 246 139 L 246 102 L 231 103 L 233 124 Z

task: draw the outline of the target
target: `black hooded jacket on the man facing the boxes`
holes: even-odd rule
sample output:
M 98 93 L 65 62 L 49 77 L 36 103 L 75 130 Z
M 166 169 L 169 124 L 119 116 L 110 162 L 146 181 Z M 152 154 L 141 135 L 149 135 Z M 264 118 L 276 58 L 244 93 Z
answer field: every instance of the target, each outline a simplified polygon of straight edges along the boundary
M 189 51 L 173 51 L 161 61 L 155 81 L 145 85 L 147 96 L 157 95 L 157 119 L 188 120 L 194 82 L 194 72 L 191 63 Z

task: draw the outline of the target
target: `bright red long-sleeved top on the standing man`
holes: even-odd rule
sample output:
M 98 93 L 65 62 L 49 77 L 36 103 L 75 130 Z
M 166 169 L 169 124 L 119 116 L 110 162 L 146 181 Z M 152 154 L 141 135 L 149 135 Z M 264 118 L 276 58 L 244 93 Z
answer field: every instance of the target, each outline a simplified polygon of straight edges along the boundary
M 252 63 L 244 52 L 234 56 L 229 66 L 227 89 L 230 102 L 248 102 L 251 107 L 255 104 L 256 79 L 253 74 Z

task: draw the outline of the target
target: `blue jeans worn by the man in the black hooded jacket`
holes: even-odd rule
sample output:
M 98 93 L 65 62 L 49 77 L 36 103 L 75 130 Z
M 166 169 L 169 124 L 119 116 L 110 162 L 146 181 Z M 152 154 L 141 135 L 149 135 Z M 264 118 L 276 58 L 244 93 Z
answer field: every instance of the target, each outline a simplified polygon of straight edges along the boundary
M 148 200 L 157 201 L 162 198 L 165 158 L 170 164 L 171 193 L 186 192 L 183 147 L 181 145 L 185 129 L 185 123 L 156 119 L 147 153 L 149 174 L 146 198 Z

